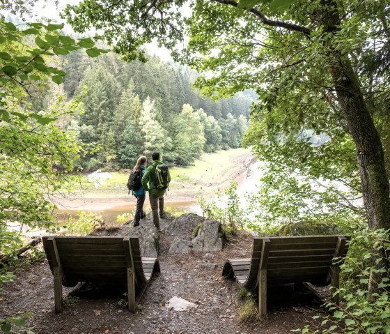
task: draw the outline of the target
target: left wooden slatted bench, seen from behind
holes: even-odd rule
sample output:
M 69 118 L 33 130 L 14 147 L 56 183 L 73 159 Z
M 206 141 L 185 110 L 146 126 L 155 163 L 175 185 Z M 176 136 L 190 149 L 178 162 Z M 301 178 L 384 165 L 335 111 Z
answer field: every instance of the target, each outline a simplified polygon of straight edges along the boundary
M 43 236 L 42 241 L 54 276 L 56 312 L 61 312 L 62 286 L 117 282 L 127 284 L 128 308 L 134 313 L 153 273 L 159 272 L 157 259 L 141 257 L 138 238 Z

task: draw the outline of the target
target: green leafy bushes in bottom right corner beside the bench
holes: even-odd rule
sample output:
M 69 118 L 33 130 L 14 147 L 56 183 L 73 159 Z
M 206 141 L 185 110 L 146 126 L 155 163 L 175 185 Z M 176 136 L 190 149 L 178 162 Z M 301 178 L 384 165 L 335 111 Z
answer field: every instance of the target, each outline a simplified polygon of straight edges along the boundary
M 323 328 L 311 330 L 306 326 L 302 333 L 389 333 L 390 332 L 390 275 L 386 258 L 375 259 L 377 267 L 370 267 L 370 249 L 380 253 L 389 251 L 389 231 L 362 229 L 354 233 L 350 242 L 350 255 L 341 265 L 341 273 L 348 278 L 344 287 L 335 293 L 341 294 L 345 303 L 336 307 L 327 303 L 331 314 L 322 321 Z M 371 271 L 381 271 L 384 277 L 375 281 Z M 370 293 L 369 285 L 376 286 L 375 293 Z M 315 316 L 319 318 L 320 316 Z

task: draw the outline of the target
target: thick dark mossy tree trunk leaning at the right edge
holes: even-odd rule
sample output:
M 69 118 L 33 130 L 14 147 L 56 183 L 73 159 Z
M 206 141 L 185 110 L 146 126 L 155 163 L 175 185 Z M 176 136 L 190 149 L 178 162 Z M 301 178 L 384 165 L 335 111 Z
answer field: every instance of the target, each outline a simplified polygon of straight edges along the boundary
M 339 45 L 336 31 L 340 24 L 336 1 L 324 0 L 327 8 L 324 19 L 327 24 L 326 31 L 331 33 L 329 55 L 333 60 L 330 67 L 334 88 L 343 110 L 345 120 L 348 123 L 350 135 L 357 148 L 357 160 L 359 162 L 361 192 L 370 229 L 390 228 L 390 198 L 389 180 L 387 179 L 384 165 L 384 153 L 380 136 L 375 128 L 373 118 L 370 115 L 368 105 L 364 100 L 361 85 L 357 74 L 354 72 L 350 59 L 342 54 L 342 45 Z M 389 261 L 377 263 L 377 259 L 386 259 L 386 254 L 371 250 L 371 268 L 387 266 Z M 376 291 L 377 284 L 387 273 L 370 273 L 370 292 Z M 376 282 L 376 284 L 374 284 Z

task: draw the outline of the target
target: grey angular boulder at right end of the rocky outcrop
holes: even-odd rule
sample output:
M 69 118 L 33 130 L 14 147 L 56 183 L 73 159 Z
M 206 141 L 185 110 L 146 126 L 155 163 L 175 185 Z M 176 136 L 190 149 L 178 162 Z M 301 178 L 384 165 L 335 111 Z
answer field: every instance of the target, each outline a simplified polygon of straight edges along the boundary
M 224 233 L 217 220 L 205 220 L 192 241 L 192 250 L 196 252 L 215 252 L 224 244 Z

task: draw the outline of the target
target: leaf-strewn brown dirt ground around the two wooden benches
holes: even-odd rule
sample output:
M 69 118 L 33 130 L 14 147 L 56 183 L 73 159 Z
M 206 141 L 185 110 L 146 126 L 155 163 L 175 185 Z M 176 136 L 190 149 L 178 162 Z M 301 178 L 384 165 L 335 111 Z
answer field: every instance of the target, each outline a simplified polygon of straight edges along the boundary
M 164 227 L 164 222 L 162 222 Z M 100 235 L 120 235 L 121 229 L 103 231 Z M 208 334 L 269 333 L 284 334 L 311 324 L 312 316 L 325 314 L 311 294 L 297 294 L 295 288 L 270 291 L 268 315 L 249 324 L 237 321 L 242 301 L 237 298 L 237 284 L 221 277 L 225 259 L 249 257 L 251 236 L 239 234 L 226 241 L 224 249 L 205 259 L 204 253 L 169 255 L 173 236 L 162 234 L 159 261 L 161 273 L 153 278 L 137 314 L 126 309 L 125 287 L 90 287 L 65 299 L 61 314 L 54 313 L 52 273 L 47 261 L 16 271 L 17 280 L 6 284 L 1 292 L 0 318 L 10 314 L 33 312 L 28 325 L 39 334 Z M 217 268 L 202 266 L 216 264 Z M 69 293 L 71 289 L 64 289 Z M 321 291 L 328 294 L 327 290 Z M 166 301 L 173 296 L 198 305 L 187 312 L 168 310 Z

